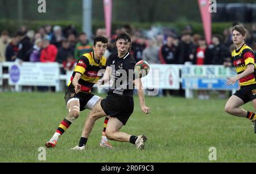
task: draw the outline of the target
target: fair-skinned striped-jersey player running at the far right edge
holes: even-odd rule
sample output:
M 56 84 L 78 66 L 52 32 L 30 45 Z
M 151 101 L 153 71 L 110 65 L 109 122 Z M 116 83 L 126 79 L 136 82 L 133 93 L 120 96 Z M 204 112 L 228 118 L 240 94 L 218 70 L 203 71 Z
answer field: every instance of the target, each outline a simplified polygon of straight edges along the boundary
M 227 84 L 234 85 L 238 80 L 240 89 L 226 102 L 225 111 L 237 117 L 245 117 L 254 123 L 256 134 L 256 115 L 240 106 L 251 101 L 256 109 L 256 65 L 253 49 L 245 44 L 246 29 L 243 26 L 233 27 L 233 43 L 236 49 L 232 52 L 232 60 L 237 76 L 228 78 Z

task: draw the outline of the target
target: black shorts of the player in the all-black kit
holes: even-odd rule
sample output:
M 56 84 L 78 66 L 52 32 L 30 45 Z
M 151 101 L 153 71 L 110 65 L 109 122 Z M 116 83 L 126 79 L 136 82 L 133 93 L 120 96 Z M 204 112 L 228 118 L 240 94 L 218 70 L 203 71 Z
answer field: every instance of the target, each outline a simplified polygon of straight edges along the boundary
M 119 119 L 125 125 L 133 113 L 134 101 L 131 97 L 109 94 L 101 101 L 101 107 L 107 115 Z

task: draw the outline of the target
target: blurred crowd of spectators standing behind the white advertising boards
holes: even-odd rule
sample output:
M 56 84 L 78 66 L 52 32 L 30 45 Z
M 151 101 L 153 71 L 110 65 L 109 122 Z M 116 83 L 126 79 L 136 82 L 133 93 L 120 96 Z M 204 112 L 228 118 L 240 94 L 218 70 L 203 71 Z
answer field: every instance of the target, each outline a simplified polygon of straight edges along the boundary
M 185 64 L 225 65 L 230 66 L 230 53 L 234 50 L 232 43 L 232 26 L 226 28 L 222 35 L 213 34 L 212 41 L 207 44 L 205 38 L 193 32 L 191 26 L 177 32 L 171 28 L 154 28 L 138 30 L 129 25 L 117 28 L 109 38 L 105 56 L 115 52 L 114 40 L 119 31 L 126 31 L 132 37 L 130 53 L 136 61 L 146 60 L 152 64 Z M 247 28 L 246 44 L 256 53 L 256 24 Z M 94 35 L 106 36 L 104 28 L 98 28 Z M 1 31 L 0 62 L 30 61 L 57 62 L 65 70 L 72 70 L 76 61 L 85 52 L 93 51 L 86 33 L 77 32 L 74 26 L 61 28 L 51 25 L 43 26 L 38 31 L 20 27 L 14 35 Z

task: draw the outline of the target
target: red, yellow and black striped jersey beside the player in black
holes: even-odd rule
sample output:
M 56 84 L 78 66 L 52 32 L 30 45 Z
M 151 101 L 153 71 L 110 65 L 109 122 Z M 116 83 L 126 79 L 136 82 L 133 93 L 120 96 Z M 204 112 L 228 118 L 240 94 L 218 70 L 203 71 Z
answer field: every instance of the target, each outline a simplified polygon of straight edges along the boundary
M 72 80 L 76 73 L 82 74 L 79 84 L 81 85 L 81 92 L 90 93 L 93 85 L 100 79 L 98 71 L 106 69 L 106 58 L 101 57 L 97 63 L 94 60 L 93 52 L 85 53 L 77 61 L 76 68 L 71 76 L 71 81 L 68 83 L 68 87 L 74 88 Z

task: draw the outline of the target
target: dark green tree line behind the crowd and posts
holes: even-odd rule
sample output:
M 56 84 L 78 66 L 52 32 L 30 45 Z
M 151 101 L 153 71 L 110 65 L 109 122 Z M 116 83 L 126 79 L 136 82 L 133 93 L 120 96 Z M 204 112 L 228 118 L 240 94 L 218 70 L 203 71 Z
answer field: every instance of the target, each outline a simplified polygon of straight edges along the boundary
M 0 19 L 18 19 L 18 1 L 0 0 Z M 38 13 L 37 0 L 22 0 L 24 20 L 82 21 L 82 0 L 46 0 Z M 255 0 L 217 0 L 217 3 L 255 3 Z M 92 0 L 93 20 L 104 20 L 102 0 Z M 113 22 L 201 22 L 197 0 L 113 0 Z

